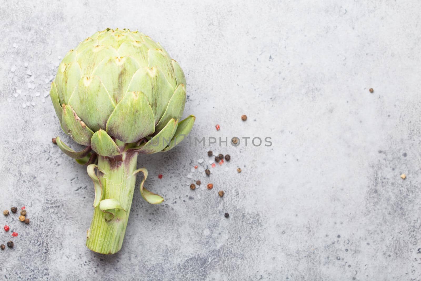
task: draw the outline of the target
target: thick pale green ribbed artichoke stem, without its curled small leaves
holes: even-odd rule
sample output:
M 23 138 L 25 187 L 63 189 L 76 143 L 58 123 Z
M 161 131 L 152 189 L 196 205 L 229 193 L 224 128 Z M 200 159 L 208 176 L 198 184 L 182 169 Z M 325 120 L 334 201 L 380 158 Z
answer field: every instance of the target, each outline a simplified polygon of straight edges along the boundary
M 86 240 L 86 246 L 93 252 L 115 254 L 123 245 L 136 184 L 133 172 L 136 170 L 137 156 L 138 153 L 125 152 L 123 161 L 103 156 L 98 158 L 98 167 L 102 171 L 97 173 L 102 185 L 101 200 L 117 199 L 125 211 L 109 219 L 109 213 L 101 211 L 100 204 L 95 207 Z

